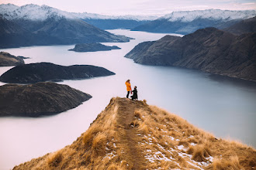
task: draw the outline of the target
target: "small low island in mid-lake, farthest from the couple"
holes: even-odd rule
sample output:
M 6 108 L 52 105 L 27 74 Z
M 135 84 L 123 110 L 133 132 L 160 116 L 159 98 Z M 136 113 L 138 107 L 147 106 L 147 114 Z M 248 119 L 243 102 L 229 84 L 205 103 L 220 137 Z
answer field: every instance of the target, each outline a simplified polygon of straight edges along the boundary
M 95 51 L 109 51 L 112 49 L 121 49 L 118 46 L 105 46 L 101 43 L 83 43 L 74 46 L 74 49 L 68 49 L 75 52 L 95 52 Z

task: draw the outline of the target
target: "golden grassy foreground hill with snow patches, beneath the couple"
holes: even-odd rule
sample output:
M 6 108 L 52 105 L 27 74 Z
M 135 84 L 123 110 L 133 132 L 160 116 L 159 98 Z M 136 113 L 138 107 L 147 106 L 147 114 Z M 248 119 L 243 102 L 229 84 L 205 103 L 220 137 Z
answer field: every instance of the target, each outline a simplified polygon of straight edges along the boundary
M 112 98 L 72 145 L 14 169 L 251 169 L 254 148 L 215 138 L 144 101 Z

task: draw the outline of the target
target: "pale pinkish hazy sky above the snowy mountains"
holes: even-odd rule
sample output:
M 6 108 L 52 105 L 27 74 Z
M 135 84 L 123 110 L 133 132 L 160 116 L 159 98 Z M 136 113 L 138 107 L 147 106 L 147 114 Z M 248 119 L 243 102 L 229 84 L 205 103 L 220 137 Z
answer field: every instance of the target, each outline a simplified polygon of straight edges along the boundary
M 0 4 L 49 5 L 67 12 L 106 15 L 164 15 L 195 9 L 256 9 L 256 0 L 0 0 Z

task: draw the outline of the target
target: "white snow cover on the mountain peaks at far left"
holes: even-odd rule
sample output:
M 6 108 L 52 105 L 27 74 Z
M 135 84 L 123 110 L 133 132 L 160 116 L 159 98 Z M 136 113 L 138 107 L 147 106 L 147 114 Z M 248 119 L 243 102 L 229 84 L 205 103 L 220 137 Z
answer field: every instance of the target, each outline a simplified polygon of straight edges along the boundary
M 5 8 L 8 6 L 9 8 Z M 12 4 L 2 4 L 0 5 L 0 14 L 5 19 L 29 19 L 29 20 L 40 20 L 43 21 L 50 17 L 54 17 L 55 19 L 67 18 L 67 19 L 76 19 L 74 15 L 71 15 L 69 12 L 61 11 L 57 8 L 52 8 L 47 5 L 23 5 L 23 6 L 15 6 Z

